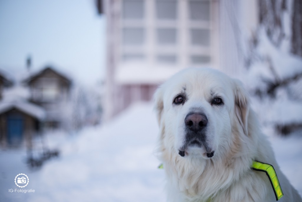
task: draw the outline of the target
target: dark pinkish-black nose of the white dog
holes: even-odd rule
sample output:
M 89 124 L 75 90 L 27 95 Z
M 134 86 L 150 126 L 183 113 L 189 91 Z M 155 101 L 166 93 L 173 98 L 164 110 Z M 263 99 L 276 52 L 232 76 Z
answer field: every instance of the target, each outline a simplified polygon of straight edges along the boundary
M 198 132 L 207 126 L 207 117 L 204 114 L 188 114 L 185 118 L 185 125 L 191 131 Z

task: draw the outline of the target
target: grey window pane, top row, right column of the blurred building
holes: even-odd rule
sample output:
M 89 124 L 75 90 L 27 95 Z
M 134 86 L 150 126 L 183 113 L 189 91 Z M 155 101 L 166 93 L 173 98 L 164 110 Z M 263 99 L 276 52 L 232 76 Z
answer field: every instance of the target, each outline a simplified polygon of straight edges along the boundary
M 210 20 L 210 2 L 209 1 L 190 1 L 189 13 L 192 20 Z

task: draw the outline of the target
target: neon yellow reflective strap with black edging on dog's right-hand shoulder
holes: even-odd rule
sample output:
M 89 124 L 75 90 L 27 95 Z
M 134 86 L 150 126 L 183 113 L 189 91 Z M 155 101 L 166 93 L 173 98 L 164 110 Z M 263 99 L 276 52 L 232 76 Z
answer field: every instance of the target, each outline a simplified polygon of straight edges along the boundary
M 271 182 L 271 186 L 273 187 L 276 200 L 279 200 L 283 196 L 283 192 L 279 184 L 279 180 L 274 167 L 270 164 L 265 164 L 259 161 L 253 161 L 252 169 L 254 169 L 255 171 L 265 172 L 269 181 Z

